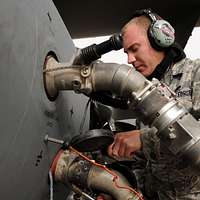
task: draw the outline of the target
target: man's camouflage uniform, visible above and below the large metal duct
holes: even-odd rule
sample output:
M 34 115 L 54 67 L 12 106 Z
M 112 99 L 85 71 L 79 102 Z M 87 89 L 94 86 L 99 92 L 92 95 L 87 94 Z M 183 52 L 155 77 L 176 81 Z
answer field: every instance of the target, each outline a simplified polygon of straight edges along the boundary
M 161 81 L 176 92 L 178 99 L 196 119 L 200 118 L 200 59 L 179 61 Z M 193 175 L 185 162 L 177 160 L 162 145 L 154 129 L 143 129 L 141 140 L 147 159 L 143 182 L 146 194 L 151 196 L 157 192 L 160 200 L 199 200 L 200 177 Z

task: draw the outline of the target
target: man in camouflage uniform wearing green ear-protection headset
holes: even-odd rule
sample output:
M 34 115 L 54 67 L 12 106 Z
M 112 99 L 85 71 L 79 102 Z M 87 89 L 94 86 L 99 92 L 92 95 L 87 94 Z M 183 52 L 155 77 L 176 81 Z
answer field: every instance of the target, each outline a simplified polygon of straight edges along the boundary
M 122 28 L 128 63 L 148 79 L 155 77 L 167 84 L 189 112 L 199 119 L 200 59 L 191 61 L 185 58 L 182 49 L 174 43 L 173 28 L 162 21 L 151 10 L 142 10 Z M 158 33 L 156 29 L 159 29 Z M 163 37 L 170 40 L 169 45 L 167 41 L 162 43 Z M 162 145 L 154 129 L 118 133 L 108 154 L 115 158 L 135 158 L 138 151 L 142 151 L 147 160 L 142 175 L 138 177 L 139 181 L 143 180 L 139 187 L 142 187 L 145 199 L 156 199 L 155 193 L 160 200 L 200 199 L 200 177 L 193 175 L 184 161 L 177 160 Z

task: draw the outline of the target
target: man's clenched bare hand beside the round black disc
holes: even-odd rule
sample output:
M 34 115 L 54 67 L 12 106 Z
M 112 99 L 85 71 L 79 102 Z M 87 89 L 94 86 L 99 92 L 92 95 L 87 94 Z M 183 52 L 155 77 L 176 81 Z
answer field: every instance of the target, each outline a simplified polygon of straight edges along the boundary
M 108 147 L 108 155 L 119 159 L 132 158 L 134 152 L 142 147 L 140 134 L 140 130 L 117 133 L 114 142 Z

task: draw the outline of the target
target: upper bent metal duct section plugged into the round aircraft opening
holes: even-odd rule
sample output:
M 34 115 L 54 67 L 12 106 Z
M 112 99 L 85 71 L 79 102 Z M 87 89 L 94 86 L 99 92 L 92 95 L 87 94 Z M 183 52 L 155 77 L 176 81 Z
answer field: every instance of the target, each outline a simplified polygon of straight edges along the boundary
M 52 56 L 46 58 L 44 82 L 47 95 L 51 98 L 60 90 L 74 90 L 87 95 L 107 90 L 121 96 L 131 96 L 132 92 L 140 92 L 146 84 L 151 84 L 128 65 L 96 62 L 90 66 L 67 66 Z

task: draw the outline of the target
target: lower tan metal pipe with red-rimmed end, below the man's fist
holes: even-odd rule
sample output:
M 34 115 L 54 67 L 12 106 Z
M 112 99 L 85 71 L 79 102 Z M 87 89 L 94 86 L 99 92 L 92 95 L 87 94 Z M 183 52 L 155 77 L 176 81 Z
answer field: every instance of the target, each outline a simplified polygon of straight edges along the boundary
M 116 200 L 142 199 L 130 189 L 130 184 L 119 172 L 115 172 L 118 184 L 116 185 L 111 173 L 69 150 L 56 155 L 51 171 L 56 181 L 71 183 L 80 189 L 98 190 Z

